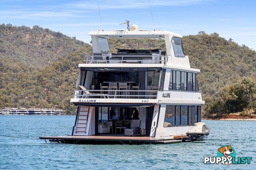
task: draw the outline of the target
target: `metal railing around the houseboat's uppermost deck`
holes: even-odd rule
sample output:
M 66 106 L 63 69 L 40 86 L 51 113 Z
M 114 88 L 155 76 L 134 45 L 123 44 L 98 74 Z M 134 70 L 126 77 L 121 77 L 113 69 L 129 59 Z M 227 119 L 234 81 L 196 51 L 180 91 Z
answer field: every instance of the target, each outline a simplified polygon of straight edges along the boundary
M 110 64 L 111 63 L 166 64 L 168 62 L 168 56 L 165 56 L 165 55 L 86 55 L 84 62 L 86 62 L 86 64 L 109 64 L 109 63 Z

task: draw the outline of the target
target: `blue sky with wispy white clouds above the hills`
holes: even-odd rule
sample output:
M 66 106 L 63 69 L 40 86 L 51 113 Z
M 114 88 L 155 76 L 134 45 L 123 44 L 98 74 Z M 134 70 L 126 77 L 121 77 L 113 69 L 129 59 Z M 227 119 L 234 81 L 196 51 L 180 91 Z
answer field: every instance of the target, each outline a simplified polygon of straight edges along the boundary
M 86 43 L 89 31 L 125 30 L 125 20 L 140 30 L 216 32 L 256 50 L 256 0 L 0 0 L 0 24 L 39 25 Z

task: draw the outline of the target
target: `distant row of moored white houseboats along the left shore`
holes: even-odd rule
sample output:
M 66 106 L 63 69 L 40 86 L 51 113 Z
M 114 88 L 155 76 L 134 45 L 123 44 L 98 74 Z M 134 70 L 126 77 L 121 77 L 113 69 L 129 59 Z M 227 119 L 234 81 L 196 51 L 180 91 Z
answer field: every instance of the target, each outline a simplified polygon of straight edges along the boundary
M 63 109 L 9 108 L 0 110 L 0 115 L 64 115 Z

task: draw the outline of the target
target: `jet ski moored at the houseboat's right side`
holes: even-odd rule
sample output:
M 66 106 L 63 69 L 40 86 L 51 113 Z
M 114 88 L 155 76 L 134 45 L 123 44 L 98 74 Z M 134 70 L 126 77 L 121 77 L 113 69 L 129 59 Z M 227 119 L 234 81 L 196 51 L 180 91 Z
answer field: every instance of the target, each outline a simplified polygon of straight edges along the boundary
M 188 131 L 186 134 L 192 141 L 203 140 L 205 136 L 208 136 L 210 130 L 206 127 L 206 123 L 195 123 L 195 127 Z

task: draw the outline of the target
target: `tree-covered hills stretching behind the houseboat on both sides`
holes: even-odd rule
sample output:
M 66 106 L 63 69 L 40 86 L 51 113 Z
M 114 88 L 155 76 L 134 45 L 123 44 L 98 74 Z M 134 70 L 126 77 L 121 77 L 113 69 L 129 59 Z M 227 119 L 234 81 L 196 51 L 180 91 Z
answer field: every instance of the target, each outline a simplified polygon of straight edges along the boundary
M 109 42 L 112 52 L 116 47 L 165 48 L 161 40 Z M 242 81 L 244 76 L 255 80 L 256 51 L 219 37 L 217 33 L 208 35 L 202 31 L 198 35 L 184 36 L 183 47 L 191 67 L 201 69 L 198 82 L 206 100 L 205 112 L 230 112 L 226 110 L 226 102 L 238 100 L 236 93 L 240 92 L 225 99 L 218 98 L 222 103 L 214 99 L 216 95 L 224 96 L 222 88 L 232 89 L 231 85 Z M 69 103 L 78 76 L 75 64 L 82 62 L 83 55 L 91 53 L 90 45 L 59 32 L 39 26 L 30 29 L 0 25 L 0 108 L 56 107 L 75 114 L 74 106 Z M 233 94 L 232 90 L 229 92 Z M 214 110 L 216 105 L 223 105 L 225 109 Z

